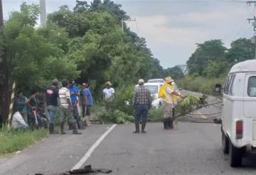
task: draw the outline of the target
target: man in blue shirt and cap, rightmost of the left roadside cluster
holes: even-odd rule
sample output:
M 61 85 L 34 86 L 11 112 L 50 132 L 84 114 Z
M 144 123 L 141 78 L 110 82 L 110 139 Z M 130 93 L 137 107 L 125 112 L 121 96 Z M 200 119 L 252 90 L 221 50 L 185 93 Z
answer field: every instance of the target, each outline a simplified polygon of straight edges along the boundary
M 90 89 L 88 88 L 88 84 L 82 83 L 80 96 L 82 101 L 82 117 L 85 118 L 86 125 L 90 125 L 90 108 L 92 107 L 93 98 Z

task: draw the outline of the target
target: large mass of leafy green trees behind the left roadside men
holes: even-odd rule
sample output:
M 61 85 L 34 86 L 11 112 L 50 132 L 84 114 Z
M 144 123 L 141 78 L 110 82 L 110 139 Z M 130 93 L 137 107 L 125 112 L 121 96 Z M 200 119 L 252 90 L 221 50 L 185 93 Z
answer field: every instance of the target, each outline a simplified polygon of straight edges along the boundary
M 61 6 L 42 27 L 37 24 L 39 12 L 38 5 L 23 3 L 1 29 L 0 123 L 7 119 L 14 82 L 28 96 L 55 78 L 87 81 L 100 98 L 107 80 L 117 87 L 171 72 L 183 77 L 179 67 L 163 69 L 144 38 L 125 24 L 122 30 L 122 20 L 129 16 L 113 1 L 76 1 L 74 9 Z

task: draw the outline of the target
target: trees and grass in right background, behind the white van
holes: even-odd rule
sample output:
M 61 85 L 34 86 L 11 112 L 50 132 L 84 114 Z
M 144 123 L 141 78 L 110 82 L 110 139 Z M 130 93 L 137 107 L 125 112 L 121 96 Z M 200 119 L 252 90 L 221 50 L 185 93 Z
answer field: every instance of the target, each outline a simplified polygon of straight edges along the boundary
M 255 43 L 240 38 L 228 49 L 221 40 L 208 40 L 197 44 L 195 52 L 186 62 L 188 72 L 178 85 L 183 89 L 211 94 L 215 84 L 224 84 L 231 67 L 238 62 L 255 58 Z

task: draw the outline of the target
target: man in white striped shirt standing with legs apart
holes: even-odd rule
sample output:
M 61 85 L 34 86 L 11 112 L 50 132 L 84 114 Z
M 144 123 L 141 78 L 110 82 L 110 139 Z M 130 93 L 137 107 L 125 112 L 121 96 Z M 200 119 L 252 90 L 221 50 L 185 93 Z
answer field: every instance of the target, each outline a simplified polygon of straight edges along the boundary
M 75 118 L 72 115 L 72 103 L 70 99 L 70 91 L 68 90 L 68 81 L 64 80 L 62 82 L 63 87 L 58 91 L 59 97 L 60 97 L 60 108 L 63 112 L 63 115 L 61 115 L 60 118 L 60 134 L 64 135 L 64 124 L 65 120 L 68 118 L 68 124 L 72 126 L 73 128 L 73 134 L 80 135 L 81 132 L 78 132 L 78 129 L 75 124 Z

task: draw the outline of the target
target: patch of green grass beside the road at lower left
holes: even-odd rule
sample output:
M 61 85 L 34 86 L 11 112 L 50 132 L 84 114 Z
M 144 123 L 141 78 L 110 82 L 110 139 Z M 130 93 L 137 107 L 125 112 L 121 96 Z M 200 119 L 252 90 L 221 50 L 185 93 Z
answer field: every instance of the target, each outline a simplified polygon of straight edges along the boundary
M 14 130 L 3 126 L 0 128 L 0 155 L 17 152 L 47 136 L 47 131 Z

